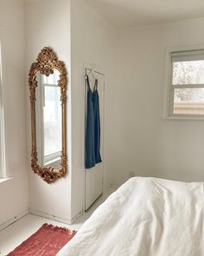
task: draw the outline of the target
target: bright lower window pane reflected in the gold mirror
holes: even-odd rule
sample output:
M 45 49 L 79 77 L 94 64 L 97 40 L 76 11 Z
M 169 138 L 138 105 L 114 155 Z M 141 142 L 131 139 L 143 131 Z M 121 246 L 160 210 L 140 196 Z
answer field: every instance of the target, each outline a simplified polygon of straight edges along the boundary
M 60 87 L 45 86 L 44 155 L 61 151 L 61 91 Z

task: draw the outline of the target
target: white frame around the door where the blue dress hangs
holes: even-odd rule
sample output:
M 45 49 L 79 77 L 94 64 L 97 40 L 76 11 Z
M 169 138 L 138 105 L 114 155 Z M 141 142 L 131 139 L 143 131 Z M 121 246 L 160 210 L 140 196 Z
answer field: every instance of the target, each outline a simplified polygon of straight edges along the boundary
M 84 96 L 83 96 L 83 106 L 84 106 L 84 126 L 83 126 L 83 145 L 84 145 L 84 150 L 82 150 L 83 155 L 82 155 L 82 159 L 83 162 L 85 163 L 85 140 L 86 140 L 86 80 L 85 80 L 85 76 L 86 76 L 86 69 L 92 69 L 92 67 L 94 66 L 95 72 L 99 73 L 100 75 L 104 75 L 104 124 L 103 124 L 103 130 L 104 130 L 104 137 L 103 137 L 103 175 L 102 175 L 102 194 L 104 193 L 105 190 L 105 182 L 104 182 L 104 178 L 105 178 L 105 89 L 106 89 L 106 84 L 107 84 L 107 77 L 106 77 L 106 71 L 105 69 L 100 68 L 97 64 L 95 63 L 88 63 L 88 62 L 84 62 L 84 70 L 83 70 L 83 74 L 84 74 Z M 85 213 L 85 207 L 86 207 L 86 168 L 84 166 L 84 172 L 83 172 L 83 213 Z M 94 203 L 94 202 L 93 202 Z

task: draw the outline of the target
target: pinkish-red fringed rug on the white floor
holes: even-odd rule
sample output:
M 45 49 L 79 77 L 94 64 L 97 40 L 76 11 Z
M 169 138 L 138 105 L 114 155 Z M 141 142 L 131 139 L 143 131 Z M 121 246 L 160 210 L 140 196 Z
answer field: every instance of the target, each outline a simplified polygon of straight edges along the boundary
M 41 228 L 22 242 L 7 256 L 53 256 L 71 240 L 76 231 L 64 227 L 43 224 Z

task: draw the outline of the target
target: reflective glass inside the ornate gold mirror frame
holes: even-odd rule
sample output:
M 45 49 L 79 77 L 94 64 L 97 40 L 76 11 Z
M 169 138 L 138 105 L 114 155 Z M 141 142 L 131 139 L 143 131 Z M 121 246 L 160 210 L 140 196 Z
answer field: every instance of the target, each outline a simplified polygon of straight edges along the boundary
M 35 121 L 38 164 L 41 167 L 61 168 L 61 88 L 60 72 L 50 75 L 36 73 Z

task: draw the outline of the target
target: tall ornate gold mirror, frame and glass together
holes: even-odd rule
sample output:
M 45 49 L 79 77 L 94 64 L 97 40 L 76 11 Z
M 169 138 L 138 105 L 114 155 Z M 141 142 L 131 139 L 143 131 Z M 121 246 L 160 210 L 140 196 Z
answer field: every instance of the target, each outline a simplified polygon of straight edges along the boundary
M 31 167 L 52 183 L 67 173 L 67 71 L 53 49 L 44 47 L 29 71 Z

